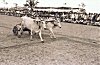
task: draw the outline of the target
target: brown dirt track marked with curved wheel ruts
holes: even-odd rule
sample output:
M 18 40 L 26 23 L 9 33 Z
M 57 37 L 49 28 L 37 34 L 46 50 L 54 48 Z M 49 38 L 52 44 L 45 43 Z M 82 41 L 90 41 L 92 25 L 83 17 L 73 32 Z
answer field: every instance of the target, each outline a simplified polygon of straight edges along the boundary
M 96 26 L 62 23 L 54 29 L 56 40 L 43 31 L 29 40 L 12 33 L 20 18 L 0 15 L 0 65 L 100 65 L 100 29 Z

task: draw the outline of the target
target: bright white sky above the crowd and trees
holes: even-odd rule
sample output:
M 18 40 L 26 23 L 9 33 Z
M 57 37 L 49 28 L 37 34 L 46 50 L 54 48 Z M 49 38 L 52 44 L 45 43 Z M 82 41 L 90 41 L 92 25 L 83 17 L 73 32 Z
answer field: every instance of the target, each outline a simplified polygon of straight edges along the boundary
M 5 0 L 9 3 L 8 7 L 14 6 L 13 3 L 18 3 L 19 6 L 23 6 L 26 3 L 26 0 Z M 84 3 L 84 7 L 87 12 L 97 12 L 100 13 L 100 0 L 38 0 L 39 3 L 37 6 L 41 7 L 79 7 L 80 3 Z M 0 6 L 3 0 L 0 0 Z M 66 5 L 64 5 L 66 3 Z

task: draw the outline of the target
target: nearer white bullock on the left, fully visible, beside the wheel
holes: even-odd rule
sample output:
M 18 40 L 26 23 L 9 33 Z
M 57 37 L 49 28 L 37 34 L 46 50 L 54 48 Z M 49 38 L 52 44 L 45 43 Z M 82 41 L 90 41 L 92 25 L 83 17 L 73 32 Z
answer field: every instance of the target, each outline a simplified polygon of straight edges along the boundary
M 21 36 L 21 33 L 23 32 L 23 28 L 27 28 L 30 30 L 30 39 L 32 40 L 32 36 L 33 36 L 33 32 L 35 33 L 39 33 L 39 37 L 41 39 L 41 42 L 44 42 L 42 35 L 41 35 L 41 30 L 43 28 L 46 28 L 46 24 L 45 21 L 36 21 L 35 19 L 32 19 L 28 16 L 23 16 L 22 18 L 22 22 L 21 22 L 21 30 L 18 33 L 18 36 Z

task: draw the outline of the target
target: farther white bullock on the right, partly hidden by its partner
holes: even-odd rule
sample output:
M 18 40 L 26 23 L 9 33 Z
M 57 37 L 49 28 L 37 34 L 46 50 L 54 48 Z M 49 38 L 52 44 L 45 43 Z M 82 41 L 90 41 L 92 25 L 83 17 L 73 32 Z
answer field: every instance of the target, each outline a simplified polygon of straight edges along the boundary
M 56 38 L 53 32 L 53 29 L 55 27 L 61 28 L 61 22 L 59 18 L 55 18 L 55 20 L 49 18 L 48 20 L 46 20 L 46 29 L 49 30 L 51 38 Z

